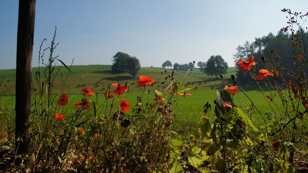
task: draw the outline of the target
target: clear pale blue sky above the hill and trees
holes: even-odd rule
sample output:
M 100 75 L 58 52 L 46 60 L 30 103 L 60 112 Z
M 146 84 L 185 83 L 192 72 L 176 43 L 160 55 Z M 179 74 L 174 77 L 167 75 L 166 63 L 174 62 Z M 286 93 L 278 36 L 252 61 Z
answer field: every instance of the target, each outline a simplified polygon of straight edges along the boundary
M 218 54 L 232 67 L 238 45 L 286 26 L 281 9 L 307 13 L 307 7 L 307 0 L 37 0 L 32 66 L 56 26 L 54 55 L 66 64 L 73 58 L 74 65 L 112 64 L 120 51 L 136 56 L 142 67 L 161 67 L 166 60 L 197 64 Z M 17 21 L 18 1 L 2 0 L 0 69 L 16 67 Z

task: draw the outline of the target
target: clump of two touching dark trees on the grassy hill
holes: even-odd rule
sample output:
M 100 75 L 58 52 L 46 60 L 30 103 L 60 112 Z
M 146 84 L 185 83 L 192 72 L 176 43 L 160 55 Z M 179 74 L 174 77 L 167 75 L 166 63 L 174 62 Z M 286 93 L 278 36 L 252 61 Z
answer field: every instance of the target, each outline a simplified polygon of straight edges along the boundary
M 113 56 L 113 64 L 111 66 L 112 73 L 128 72 L 135 77 L 140 70 L 140 62 L 135 56 L 130 56 L 127 53 L 118 52 Z

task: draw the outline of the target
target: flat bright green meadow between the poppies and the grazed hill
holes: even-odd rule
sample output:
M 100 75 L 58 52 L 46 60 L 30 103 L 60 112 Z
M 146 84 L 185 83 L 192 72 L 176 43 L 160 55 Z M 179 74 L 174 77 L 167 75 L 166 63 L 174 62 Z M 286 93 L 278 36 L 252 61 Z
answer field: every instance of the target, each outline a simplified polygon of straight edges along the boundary
M 175 97 L 175 100 L 177 99 L 177 103 L 178 103 L 176 107 L 176 112 L 178 113 L 177 113 L 177 117 L 175 119 L 174 124 L 171 126 L 171 129 L 178 133 L 183 132 L 184 135 L 196 133 L 197 132 L 196 127 L 198 127 L 200 117 L 203 116 L 202 108 L 207 101 L 214 106 L 213 101 L 217 98 L 216 91 L 217 90 L 215 89 L 188 91 L 187 93 L 191 93 L 192 96 L 186 97 L 183 104 L 182 104 L 182 101 L 184 97 L 180 95 L 177 98 Z M 69 115 L 69 113 L 71 113 L 72 110 L 76 108 L 74 103 L 79 103 L 81 98 L 83 98 L 82 94 L 80 94 L 82 93 L 81 90 L 79 90 L 78 93 L 79 94 L 68 95 L 70 100 L 69 100 L 69 104 L 65 106 L 67 110 L 63 110 L 64 113 L 67 112 L 67 115 Z M 132 111 L 133 105 L 137 101 L 137 97 L 140 96 L 141 94 L 142 92 L 130 92 L 124 95 L 124 99 L 131 104 L 130 111 Z M 243 93 L 240 93 L 240 94 L 246 106 L 250 107 L 251 102 L 249 101 L 249 99 L 246 98 Z M 259 111 L 262 114 L 271 110 L 270 105 L 267 104 L 266 99 L 261 94 L 261 92 L 248 91 L 246 92 L 246 94 L 252 99 L 252 101 L 254 102 L 254 104 L 256 105 L 256 107 L 259 109 Z M 54 96 L 55 96 L 55 99 L 59 98 L 59 95 L 54 95 Z M 237 94 L 234 95 L 234 101 L 237 106 L 240 106 L 237 96 L 238 96 Z M 153 103 L 154 98 L 155 98 L 154 92 L 150 92 L 150 94 L 145 95 L 142 103 L 144 104 L 146 104 L 146 102 Z M 5 96 L 3 101 L 6 103 L 13 103 L 13 104 L 10 104 L 13 106 L 14 99 L 15 99 L 14 96 Z M 92 96 L 89 98 L 89 100 L 96 100 L 96 97 Z M 98 94 L 99 109 L 101 109 L 101 105 L 103 104 L 105 100 L 106 99 L 103 96 L 103 94 Z M 108 101 L 110 101 L 110 99 Z M 11 110 L 10 112 L 12 112 L 13 109 L 14 109 L 13 107 L 10 107 L 9 108 L 9 110 Z M 253 111 L 256 112 L 256 110 L 253 110 Z M 258 113 L 253 114 L 252 120 L 256 126 L 262 126 L 264 124 L 264 122 L 261 119 L 261 116 L 258 115 Z

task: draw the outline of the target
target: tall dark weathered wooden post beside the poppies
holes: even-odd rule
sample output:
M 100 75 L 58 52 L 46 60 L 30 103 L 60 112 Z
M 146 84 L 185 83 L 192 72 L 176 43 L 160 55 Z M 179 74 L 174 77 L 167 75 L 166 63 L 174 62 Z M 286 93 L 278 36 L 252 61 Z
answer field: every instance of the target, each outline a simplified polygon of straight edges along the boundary
M 18 154 L 31 152 L 31 76 L 36 0 L 19 0 L 16 53 L 16 120 L 15 150 Z M 22 136 L 22 140 L 17 141 Z

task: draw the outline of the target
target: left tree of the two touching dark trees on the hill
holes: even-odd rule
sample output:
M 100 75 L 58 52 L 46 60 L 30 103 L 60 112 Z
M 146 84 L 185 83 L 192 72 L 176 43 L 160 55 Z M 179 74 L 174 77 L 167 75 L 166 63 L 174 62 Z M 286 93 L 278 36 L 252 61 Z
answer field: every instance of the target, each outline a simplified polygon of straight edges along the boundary
M 123 73 L 127 72 L 127 63 L 130 56 L 126 53 L 118 52 L 113 56 L 113 64 L 111 66 L 111 71 L 113 73 Z

